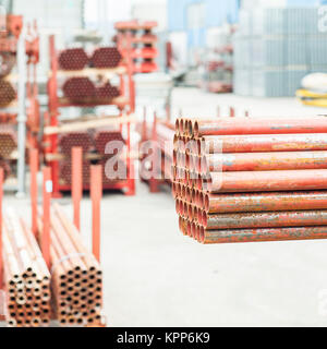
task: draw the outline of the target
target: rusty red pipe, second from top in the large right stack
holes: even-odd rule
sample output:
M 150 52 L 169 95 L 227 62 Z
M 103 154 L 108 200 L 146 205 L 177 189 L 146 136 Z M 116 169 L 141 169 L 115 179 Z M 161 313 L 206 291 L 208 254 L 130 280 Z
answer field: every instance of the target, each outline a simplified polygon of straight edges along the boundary
M 197 154 L 327 151 L 326 133 L 209 135 L 197 141 Z

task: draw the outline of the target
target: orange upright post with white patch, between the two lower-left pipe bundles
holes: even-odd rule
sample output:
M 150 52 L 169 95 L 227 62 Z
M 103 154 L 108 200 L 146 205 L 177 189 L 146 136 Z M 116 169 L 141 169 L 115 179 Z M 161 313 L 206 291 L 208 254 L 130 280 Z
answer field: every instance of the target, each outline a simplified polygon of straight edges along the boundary
M 45 167 L 44 173 L 44 231 L 40 241 L 41 252 L 44 260 L 50 269 L 50 205 L 51 205 L 51 193 L 52 193 L 52 180 L 51 169 Z

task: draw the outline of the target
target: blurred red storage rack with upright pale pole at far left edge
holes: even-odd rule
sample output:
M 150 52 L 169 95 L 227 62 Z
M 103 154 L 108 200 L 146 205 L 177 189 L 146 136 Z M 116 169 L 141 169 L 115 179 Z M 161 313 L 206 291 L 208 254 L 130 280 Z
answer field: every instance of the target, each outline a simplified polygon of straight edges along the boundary
M 31 27 L 27 31 L 24 28 L 23 17 L 20 15 L 8 15 L 7 27 L 7 35 L 0 38 L 0 51 L 16 55 L 16 72 L 10 73 L 5 80 L 16 83 L 17 93 L 16 100 L 0 109 L 0 124 L 16 125 L 17 151 L 10 158 L 10 160 L 16 161 L 16 174 L 5 181 L 4 190 L 15 191 L 17 196 L 22 197 L 25 195 L 26 142 L 29 144 L 33 139 L 35 140 L 35 131 L 38 128 L 37 88 L 35 87 L 37 86 L 38 36 L 36 24 L 34 25 L 34 34 L 29 35 Z M 27 74 L 31 67 L 34 68 L 33 77 Z M 26 86 L 28 88 L 27 95 Z M 26 127 L 28 127 L 28 139 L 26 139 Z

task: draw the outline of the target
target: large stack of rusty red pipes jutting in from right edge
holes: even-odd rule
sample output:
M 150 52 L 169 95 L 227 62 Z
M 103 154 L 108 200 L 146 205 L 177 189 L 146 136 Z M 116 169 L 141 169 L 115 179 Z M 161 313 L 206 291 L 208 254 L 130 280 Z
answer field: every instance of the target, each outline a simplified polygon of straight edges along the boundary
M 327 119 L 178 119 L 173 194 L 202 243 L 327 238 Z

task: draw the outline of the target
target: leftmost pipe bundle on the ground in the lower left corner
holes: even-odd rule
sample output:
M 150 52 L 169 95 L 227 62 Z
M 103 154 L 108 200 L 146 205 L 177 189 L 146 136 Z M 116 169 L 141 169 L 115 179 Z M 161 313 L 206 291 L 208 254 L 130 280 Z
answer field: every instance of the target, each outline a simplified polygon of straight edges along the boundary
M 36 239 L 11 208 L 3 216 L 3 269 L 9 326 L 47 326 L 51 318 L 50 274 Z

